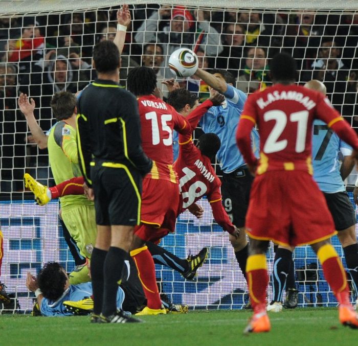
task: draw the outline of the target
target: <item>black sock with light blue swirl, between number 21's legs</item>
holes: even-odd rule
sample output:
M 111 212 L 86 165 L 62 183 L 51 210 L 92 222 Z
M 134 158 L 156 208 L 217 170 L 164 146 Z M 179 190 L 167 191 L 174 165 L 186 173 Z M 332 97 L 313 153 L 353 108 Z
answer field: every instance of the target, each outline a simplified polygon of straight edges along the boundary
M 283 248 L 278 248 L 275 253 L 274 270 L 272 272 L 272 288 L 275 302 L 282 301 L 282 293 L 285 287 L 286 278 L 289 272 L 292 252 Z

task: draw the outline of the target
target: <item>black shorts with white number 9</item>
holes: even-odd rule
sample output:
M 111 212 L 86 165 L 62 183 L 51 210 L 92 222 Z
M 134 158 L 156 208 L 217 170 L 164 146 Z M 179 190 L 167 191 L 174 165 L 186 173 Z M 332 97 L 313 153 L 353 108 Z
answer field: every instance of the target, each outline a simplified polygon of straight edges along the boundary
M 245 225 L 253 180 L 254 177 L 247 168 L 237 169 L 229 174 L 222 173 L 222 204 L 236 227 Z

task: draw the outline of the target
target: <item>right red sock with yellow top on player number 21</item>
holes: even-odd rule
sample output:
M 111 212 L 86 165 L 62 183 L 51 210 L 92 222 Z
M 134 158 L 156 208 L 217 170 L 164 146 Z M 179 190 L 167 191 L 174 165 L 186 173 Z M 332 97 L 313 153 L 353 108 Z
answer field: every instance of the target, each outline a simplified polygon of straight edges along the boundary
M 333 246 L 330 244 L 321 246 L 317 251 L 317 257 L 322 264 L 325 279 L 338 302 L 340 304 L 349 305 L 349 288 L 346 273 Z

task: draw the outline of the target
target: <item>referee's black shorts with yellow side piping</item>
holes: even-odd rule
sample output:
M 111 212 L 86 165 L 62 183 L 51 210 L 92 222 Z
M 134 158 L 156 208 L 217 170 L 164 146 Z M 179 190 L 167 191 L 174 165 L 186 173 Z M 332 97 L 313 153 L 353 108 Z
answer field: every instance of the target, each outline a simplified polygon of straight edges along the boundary
M 96 163 L 91 167 L 96 223 L 98 225 L 138 225 L 142 195 L 140 173 L 125 165 L 121 165 L 122 168 L 102 165 Z

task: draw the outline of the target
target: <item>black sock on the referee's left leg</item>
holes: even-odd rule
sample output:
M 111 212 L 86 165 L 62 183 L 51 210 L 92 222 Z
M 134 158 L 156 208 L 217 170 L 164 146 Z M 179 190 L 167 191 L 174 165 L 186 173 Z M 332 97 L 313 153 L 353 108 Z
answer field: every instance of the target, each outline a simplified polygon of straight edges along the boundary
M 93 290 L 93 313 L 99 315 L 103 303 L 103 267 L 107 251 L 95 247 L 91 256 L 91 281 Z

